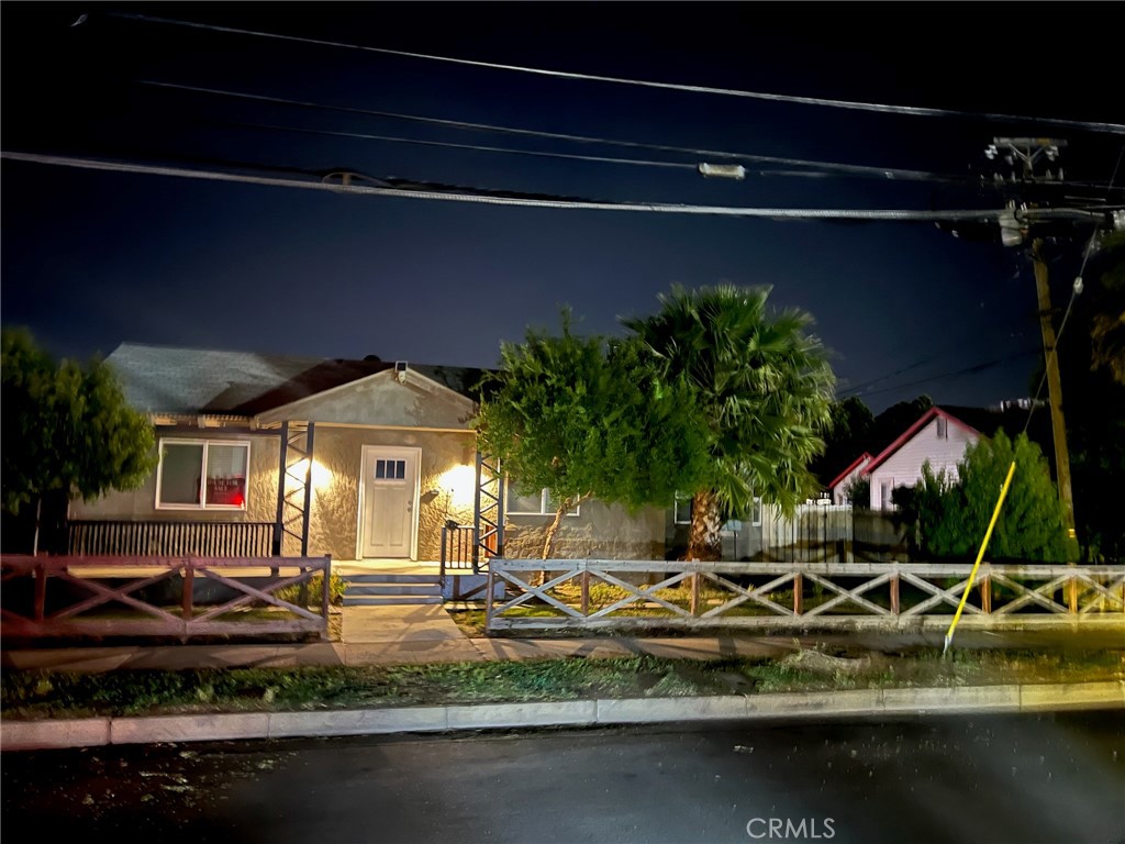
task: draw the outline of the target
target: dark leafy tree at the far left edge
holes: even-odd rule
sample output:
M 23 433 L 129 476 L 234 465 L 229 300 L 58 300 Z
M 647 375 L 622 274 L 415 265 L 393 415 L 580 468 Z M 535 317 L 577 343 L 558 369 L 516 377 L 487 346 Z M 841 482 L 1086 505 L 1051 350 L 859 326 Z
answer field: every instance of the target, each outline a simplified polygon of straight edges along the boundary
M 46 496 L 92 500 L 135 488 L 155 465 L 154 434 L 109 367 L 55 365 L 22 330 L 2 334 L 3 508 L 38 515 Z

